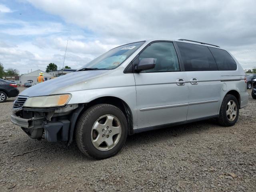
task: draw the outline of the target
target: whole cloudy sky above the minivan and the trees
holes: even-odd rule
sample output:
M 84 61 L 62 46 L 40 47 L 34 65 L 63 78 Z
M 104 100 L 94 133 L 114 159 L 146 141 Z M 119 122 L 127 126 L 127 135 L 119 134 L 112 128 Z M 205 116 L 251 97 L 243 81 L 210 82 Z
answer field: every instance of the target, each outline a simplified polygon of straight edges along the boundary
M 255 0 L 2 0 L 0 62 L 21 73 L 50 62 L 61 68 L 69 40 L 65 65 L 79 68 L 120 44 L 186 38 L 219 45 L 252 68 L 255 7 Z

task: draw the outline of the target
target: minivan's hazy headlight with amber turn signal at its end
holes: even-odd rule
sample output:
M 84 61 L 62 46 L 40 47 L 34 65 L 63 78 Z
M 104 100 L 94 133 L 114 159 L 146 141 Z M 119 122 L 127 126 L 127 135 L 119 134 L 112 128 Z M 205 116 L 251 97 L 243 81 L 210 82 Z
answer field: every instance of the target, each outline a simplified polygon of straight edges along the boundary
M 29 97 L 24 107 L 57 107 L 64 106 L 71 98 L 70 94 Z

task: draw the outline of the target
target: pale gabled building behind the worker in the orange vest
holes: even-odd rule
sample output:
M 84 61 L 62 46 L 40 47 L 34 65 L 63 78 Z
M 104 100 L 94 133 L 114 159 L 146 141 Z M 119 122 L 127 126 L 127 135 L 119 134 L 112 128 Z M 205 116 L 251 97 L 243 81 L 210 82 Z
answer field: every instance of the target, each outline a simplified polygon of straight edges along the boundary
M 50 78 L 53 77 L 51 74 L 48 74 L 39 69 L 39 70 L 33 71 L 31 73 L 24 74 L 24 75 L 20 76 L 20 86 L 24 86 L 24 83 L 26 83 L 27 81 L 32 81 L 32 85 L 37 84 L 37 77 L 39 76 L 39 73 L 41 73 L 41 72 L 44 74 L 45 80 L 49 80 Z

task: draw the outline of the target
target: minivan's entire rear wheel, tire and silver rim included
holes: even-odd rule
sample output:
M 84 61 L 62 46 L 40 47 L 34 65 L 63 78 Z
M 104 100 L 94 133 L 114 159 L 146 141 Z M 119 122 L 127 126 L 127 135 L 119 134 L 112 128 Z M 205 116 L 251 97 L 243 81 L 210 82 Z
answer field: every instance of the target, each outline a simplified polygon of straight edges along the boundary
M 222 126 L 233 126 L 239 115 L 239 104 L 234 95 L 226 95 L 220 107 L 219 123 Z

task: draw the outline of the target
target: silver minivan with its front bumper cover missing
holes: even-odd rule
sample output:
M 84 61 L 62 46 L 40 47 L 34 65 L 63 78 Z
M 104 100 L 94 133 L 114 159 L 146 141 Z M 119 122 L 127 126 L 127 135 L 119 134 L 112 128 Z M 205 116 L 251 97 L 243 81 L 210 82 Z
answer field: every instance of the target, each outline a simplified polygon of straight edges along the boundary
M 247 102 L 244 71 L 226 50 L 146 40 L 24 90 L 11 121 L 33 139 L 76 140 L 82 153 L 102 159 L 115 155 L 128 134 L 209 118 L 233 126 Z

